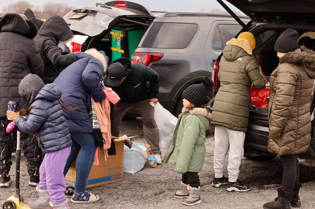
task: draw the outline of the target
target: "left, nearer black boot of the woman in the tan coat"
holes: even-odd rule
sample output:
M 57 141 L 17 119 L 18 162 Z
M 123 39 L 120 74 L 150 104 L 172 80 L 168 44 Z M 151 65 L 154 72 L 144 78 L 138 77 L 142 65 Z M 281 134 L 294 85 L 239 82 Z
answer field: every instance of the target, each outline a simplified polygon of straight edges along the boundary
M 267 202 L 264 209 L 290 209 L 294 192 L 283 194 L 281 188 L 277 189 L 278 199 L 273 202 Z

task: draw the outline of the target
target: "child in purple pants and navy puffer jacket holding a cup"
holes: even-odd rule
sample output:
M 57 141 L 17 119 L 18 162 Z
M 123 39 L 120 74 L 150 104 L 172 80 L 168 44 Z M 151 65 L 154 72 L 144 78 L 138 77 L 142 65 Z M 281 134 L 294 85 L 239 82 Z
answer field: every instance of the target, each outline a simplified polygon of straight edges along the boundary
M 19 94 L 26 101 L 27 109 L 13 112 L 7 117 L 21 131 L 37 136 L 39 147 L 45 153 L 39 168 L 40 182 L 36 187 L 38 200 L 30 200 L 31 208 L 69 209 L 63 170 L 71 150 L 71 137 L 60 100 L 61 89 L 54 83 L 44 85 L 35 74 L 28 74 L 19 85 Z M 62 106 L 61 106 L 62 105 Z M 20 116 L 24 114 L 27 118 Z

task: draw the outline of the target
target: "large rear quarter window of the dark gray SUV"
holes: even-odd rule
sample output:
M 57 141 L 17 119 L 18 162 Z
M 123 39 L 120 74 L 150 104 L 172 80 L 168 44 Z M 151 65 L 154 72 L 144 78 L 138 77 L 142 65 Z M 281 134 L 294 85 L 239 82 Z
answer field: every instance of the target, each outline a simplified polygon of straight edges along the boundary
M 183 49 L 188 46 L 197 29 L 197 24 L 155 22 L 142 46 L 146 48 Z

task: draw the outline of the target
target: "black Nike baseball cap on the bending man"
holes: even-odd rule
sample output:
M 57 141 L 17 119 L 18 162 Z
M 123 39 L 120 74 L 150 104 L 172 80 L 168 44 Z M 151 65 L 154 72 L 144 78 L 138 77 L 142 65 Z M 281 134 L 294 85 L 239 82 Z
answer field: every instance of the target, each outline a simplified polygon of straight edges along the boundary
M 119 86 L 123 80 L 125 68 L 119 62 L 115 62 L 108 67 L 108 76 L 106 84 L 109 86 Z

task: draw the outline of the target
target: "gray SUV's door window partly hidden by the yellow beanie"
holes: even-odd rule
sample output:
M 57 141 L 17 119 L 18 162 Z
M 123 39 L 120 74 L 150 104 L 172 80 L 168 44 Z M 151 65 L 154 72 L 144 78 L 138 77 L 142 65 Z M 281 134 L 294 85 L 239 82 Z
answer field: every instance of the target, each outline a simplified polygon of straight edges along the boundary
M 226 42 L 234 38 L 242 29 L 240 25 L 219 24 L 215 27 L 215 34 L 213 36 L 211 47 L 214 50 L 223 51 Z

